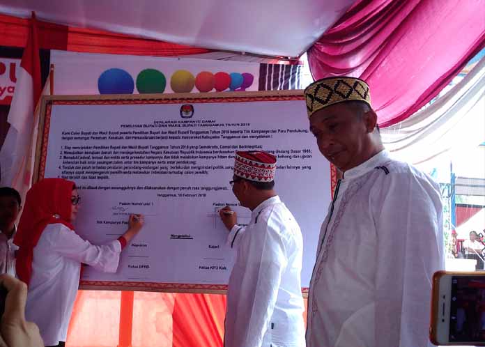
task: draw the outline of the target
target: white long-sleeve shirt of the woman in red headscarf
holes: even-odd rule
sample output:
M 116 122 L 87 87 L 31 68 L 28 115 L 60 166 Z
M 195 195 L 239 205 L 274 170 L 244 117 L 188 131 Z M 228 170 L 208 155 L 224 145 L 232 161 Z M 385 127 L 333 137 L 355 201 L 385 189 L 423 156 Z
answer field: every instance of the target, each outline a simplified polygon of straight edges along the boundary
M 81 263 L 116 272 L 121 243 L 95 246 L 63 224 L 48 224 L 33 249 L 25 316 L 36 323 L 45 346 L 66 341 Z

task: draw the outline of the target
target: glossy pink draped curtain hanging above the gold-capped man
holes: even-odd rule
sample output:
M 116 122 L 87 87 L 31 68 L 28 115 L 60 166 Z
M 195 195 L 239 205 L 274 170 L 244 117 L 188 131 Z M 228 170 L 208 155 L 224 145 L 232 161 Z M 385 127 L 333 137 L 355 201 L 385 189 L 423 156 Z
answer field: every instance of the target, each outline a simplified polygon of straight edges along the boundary
M 485 45 L 485 0 L 360 0 L 308 51 L 314 79 L 366 80 L 382 127 L 426 105 Z

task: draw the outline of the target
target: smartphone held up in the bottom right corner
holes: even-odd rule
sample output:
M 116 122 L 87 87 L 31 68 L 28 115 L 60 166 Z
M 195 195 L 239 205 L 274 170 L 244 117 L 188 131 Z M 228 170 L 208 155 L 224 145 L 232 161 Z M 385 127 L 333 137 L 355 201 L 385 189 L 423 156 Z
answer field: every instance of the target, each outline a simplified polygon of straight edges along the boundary
M 437 346 L 485 346 L 485 271 L 433 275 L 429 332 Z

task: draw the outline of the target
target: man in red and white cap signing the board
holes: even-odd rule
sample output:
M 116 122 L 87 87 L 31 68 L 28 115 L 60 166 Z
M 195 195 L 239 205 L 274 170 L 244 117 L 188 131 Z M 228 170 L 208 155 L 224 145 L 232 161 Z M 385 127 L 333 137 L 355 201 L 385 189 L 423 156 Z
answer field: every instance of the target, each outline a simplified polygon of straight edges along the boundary
M 276 158 L 262 151 L 238 152 L 231 185 L 249 208 L 247 226 L 229 207 L 220 211 L 237 249 L 229 278 L 225 347 L 305 347 L 300 272 L 303 241 L 295 217 L 279 199 Z

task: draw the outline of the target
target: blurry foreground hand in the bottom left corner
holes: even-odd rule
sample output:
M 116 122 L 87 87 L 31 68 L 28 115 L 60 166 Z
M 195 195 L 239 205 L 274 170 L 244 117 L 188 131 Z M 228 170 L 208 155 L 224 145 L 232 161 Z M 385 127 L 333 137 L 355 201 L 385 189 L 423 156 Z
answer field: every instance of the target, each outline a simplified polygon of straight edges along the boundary
M 43 347 L 39 328 L 25 320 L 27 285 L 10 275 L 0 275 L 0 286 L 7 291 L 5 311 L 0 323 L 0 346 Z

